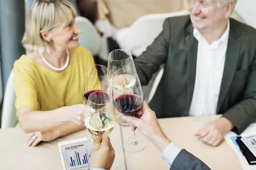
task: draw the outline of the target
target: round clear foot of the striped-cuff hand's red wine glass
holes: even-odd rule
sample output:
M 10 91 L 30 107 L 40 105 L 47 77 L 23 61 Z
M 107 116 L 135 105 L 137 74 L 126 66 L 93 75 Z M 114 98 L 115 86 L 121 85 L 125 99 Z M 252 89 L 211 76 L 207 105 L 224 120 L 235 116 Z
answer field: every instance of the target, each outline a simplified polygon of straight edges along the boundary
M 140 152 L 147 146 L 147 140 L 145 138 L 138 138 L 137 142 L 134 142 L 134 137 L 130 137 L 125 140 L 123 147 L 125 150 L 131 153 Z

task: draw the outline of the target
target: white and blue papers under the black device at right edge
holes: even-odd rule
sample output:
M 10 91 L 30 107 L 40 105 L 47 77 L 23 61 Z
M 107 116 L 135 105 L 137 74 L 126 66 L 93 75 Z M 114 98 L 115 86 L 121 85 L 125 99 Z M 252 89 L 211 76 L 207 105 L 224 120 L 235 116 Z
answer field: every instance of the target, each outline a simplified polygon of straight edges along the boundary
M 250 126 L 248 126 L 247 129 L 244 130 L 243 133 L 241 133 L 241 135 L 246 133 L 253 133 L 253 132 L 254 133 L 256 132 L 256 123 L 252 123 Z M 246 158 L 241 153 L 239 145 L 236 143 L 237 136 L 238 135 L 236 133 L 230 131 L 225 135 L 224 138 L 226 142 L 230 145 L 230 147 L 233 149 L 233 151 L 236 153 L 242 168 L 244 170 L 256 170 L 256 165 L 248 164 Z

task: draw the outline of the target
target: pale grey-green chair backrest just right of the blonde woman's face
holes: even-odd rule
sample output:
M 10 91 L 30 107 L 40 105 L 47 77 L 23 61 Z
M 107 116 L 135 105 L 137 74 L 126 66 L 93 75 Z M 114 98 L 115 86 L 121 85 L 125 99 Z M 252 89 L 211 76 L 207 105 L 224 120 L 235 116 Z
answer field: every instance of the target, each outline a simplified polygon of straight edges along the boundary
M 87 48 L 93 56 L 98 54 L 101 39 L 93 23 L 85 17 L 77 16 L 76 24 L 82 31 L 81 34 L 78 34 L 80 45 Z

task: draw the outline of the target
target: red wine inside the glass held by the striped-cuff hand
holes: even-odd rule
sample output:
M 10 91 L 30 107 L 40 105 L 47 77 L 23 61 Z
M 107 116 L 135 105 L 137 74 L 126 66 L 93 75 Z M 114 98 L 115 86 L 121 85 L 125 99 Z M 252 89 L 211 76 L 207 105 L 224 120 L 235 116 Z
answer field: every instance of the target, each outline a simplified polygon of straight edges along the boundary
M 143 105 L 142 99 L 135 94 L 123 94 L 114 102 L 115 108 L 126 116 L 134 116 Z

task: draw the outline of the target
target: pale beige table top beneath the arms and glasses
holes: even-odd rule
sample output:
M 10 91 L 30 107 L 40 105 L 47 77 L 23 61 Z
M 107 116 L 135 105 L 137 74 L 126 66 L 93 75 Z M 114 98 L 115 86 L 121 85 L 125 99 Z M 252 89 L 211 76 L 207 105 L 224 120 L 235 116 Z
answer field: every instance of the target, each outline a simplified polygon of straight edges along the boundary
M 158 119 L 166 135 L 180 147 L 204 161 L 212 170 L 241 170 L 236 154 L 224 140 L 211 147 L 194 136 L 197 130 L 220 115 Z M 58 142 L 86 136 L 87 131 L 63 136 L 52 142 L 41 142 L 37 147 L 27 147 L 28 134 L 20 128 L 0 129 L 0 164 L 3 170 L 61 170 Z M 143 135 L 136 130 L 138 137 Z M 131 137 L 131 127 L 116 125 L 110 134 L 116 158 L 111 170 L 167 170 L 161 153 L 151 143 L 139 153 L 129 153 L 122 141 Z

